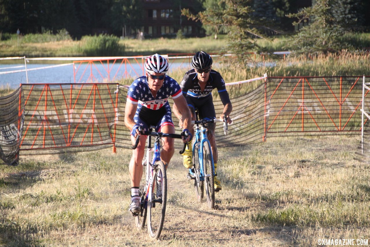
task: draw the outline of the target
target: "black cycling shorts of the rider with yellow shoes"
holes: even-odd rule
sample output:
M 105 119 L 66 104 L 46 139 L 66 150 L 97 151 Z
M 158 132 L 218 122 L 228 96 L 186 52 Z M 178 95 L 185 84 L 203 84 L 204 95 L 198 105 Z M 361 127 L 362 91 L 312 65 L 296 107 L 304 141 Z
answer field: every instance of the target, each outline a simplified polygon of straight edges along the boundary
M 215 106 L 213 105 L 212 94 L 204 98 L 195 98 L 187 96 L 185 97 L 186 102 L 188 103 L 189 108 L 198 108 L 199 120 L 203 118 L 215 118 Z

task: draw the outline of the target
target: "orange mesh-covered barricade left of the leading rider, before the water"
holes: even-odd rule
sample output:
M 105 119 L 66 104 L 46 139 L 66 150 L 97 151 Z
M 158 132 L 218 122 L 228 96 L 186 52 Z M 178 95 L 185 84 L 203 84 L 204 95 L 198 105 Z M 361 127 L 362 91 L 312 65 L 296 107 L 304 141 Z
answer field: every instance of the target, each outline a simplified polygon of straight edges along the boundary
M 22 87 L 26 100 L 20 150 L 114 146 L 117 83 Z

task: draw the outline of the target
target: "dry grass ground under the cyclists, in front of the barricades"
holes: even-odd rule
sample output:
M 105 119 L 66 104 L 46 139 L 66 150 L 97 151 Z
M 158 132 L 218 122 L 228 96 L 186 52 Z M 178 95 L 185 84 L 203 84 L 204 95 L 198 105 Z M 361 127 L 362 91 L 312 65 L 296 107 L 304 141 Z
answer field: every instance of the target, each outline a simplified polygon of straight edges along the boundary
M 268 138 L 219 148 L 216 210 L 195 201 L 175 152 L 164 230 L 154 242 L 127 211 L 131 151 L 21 156 L 18 167 L 0 169 L 0 244 L 317 246 L 319 239 L 369 239 L 369 164 L 354 160 L 359 139 Z

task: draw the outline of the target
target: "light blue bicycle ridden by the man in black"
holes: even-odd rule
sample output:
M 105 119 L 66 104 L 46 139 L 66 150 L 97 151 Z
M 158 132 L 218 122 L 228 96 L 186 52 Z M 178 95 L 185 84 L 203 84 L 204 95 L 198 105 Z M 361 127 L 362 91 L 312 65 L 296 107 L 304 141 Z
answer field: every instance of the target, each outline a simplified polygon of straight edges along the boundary
M 215 188 L 213 185 L 215 166 L 213 164 L 213 156 L 211 144 L 207 138 L 206 123 L 223 122 L 219 119 L 204 118 L 198 120 L 198 109 L 195 109 L 196 120 L 192 121 L 195 124 L 195 137 L 193 138 L 193 168 L 189 169 L 188 178 L 194 180 L 195 195 L 198 202 L 201 202 L 204 197 L 204 187 L 206 192 L 207 204 L 211 209 L 215 208 Z M 226 119 L 226 115 L 224 115 Z M 201 128 L 199 129 L 199 125 Z M 223 122 L 223 130 L 227 134 L 227 122 Z M 205 184 L 205 186 L 204 186 Z

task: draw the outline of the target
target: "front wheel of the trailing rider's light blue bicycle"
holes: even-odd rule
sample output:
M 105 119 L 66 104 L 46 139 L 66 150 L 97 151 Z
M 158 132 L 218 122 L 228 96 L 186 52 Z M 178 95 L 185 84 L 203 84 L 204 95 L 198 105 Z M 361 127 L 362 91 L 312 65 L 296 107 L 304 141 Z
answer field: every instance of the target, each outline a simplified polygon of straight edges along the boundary
M 203 172 L 208 207 L 215 208 L 215 187 L 213 177 L 212 153 L 208 142 L 203 143 Z

